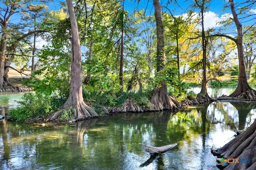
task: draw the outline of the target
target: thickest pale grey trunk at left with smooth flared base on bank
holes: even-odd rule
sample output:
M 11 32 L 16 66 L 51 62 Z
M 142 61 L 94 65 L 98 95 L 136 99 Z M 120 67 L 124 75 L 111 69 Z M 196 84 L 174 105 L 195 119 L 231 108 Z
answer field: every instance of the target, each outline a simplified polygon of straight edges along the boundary
M 82 96 L 82 68 L 81 68 L 81 50 L 78 34 L 78 25 L 72 0 L 66 0 L 71 23 L 71 79 L 70 93 L 65 104 L 60 109 L 74 108 L 74 118 L 82 120 L 91 117 L 98 117 L 98 114 L 91 107 L 84 103 Z M 50 121 L 58 118 L 61 111 L 53 113 Z

